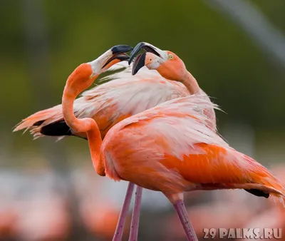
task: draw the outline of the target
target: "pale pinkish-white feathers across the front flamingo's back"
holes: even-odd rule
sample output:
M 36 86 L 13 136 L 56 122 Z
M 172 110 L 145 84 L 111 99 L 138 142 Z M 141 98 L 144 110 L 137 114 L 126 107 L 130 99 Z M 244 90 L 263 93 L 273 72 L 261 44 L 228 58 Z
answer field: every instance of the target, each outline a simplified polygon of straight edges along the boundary
M 149 147 L 152 146 L 156 158 L 157 153 L 165 153 L 165 151 L 167 154 L 174 155 L 179 159 L 182 159 L 182 155 L 202 153 L 202 149 L 195 148 L 194 150 L 194 145 L 197 143 L 228 146 L 214 130 L 209 128 L 211 120 L 204 114 L 204 110 L 214 108 L 219 109 L 204 95 L 176 98 L 122 120 L 109 130 L 105 139 L 108 140 L 108 138 L 111 138 L 112 133 L 118 133 L 118 131 L 124 130 L 132 123 L 144 122 L 144 125 L 140 125 L 138 133 L 135 131 L 131 134 L 134 138 L 132 143 L 136 145 L 134 150 L 138 150 L 138 142 L 143 142 L 141 151 L 144 152 L 145 150 L 148 152 L 147 155 L 151 155 L 152 152 Z M 138 136 L 135 136 L 137 134 Z M 160 151 L 162 147 L 154 145 L 157 137 L 162 137 L 165 140 L 167 148 L 163 147 L 163 150 Z M 152 144 L 150 145 L 150 143 Z M 145 148 L 146 146 L 147 148 Z

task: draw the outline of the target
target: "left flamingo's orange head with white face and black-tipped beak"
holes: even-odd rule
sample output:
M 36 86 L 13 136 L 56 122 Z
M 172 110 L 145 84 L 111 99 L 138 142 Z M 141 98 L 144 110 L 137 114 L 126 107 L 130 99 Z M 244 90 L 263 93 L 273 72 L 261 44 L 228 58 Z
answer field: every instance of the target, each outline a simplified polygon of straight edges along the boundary
M 67 83 L 69 90 L 72 89 L 78 94 L 82 90 L 88 88 L 100 73 L 107 71 L 108 68 L 115 63 L 127 61 L 129 56 L 126 52 L 131 51 L 132 49 L 132 47 L 127 45 L 113 46 L 113 48 L 110 48 L 94 61 L 82 63 L 68 78 Z

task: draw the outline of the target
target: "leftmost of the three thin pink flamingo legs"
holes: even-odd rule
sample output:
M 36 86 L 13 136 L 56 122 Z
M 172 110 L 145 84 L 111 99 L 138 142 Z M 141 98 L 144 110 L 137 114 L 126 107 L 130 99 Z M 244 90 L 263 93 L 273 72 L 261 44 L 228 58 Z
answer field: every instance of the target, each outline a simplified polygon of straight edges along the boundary
M 122 210 L 120 211 L 120 217 L 118 220 L 118 224 L 115 230 L 115 234 L 113 237 L 113 241 L 121 241 L 124 232 L 125 220 L 128 215 L 128 210 L 130 208 L 130 201 L 132 200 L 133 189 L 135 184 L 129 183 L 127 193 L 125 194 L 125 200 L 123 203 Z

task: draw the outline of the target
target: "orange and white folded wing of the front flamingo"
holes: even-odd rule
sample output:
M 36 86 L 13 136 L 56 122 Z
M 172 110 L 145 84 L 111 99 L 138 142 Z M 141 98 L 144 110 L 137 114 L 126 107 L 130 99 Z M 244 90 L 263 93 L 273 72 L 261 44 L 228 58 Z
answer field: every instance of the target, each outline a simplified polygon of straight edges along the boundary
M 161 173 L 167 173 L 168 177 L 170 173 L 175 173 L 172 183 L 180 188 L 186 185 L 185 181 L 192 184 L 186 190 L 241 188 L 253 194 L 257 191 L 257 195 L 262 194 L 264 197 L 267 194 L 278 197 L 285 195 L 279 180 L 269 170 L 231 148 L 207 126 L 209 117 L 204 114 L 204 110 L 209 108 L 217 106 L 203 96 L 196 95 L 162 103 L 110 129 L 103 142 L 103 151 L 111 151 L 113 159 L 126 162 L 123 165 L 137 163 L 141 170 L 133 169 L 133 173 L 152 172 L 160 176 Z M 120 140 L 120 143 L 112 142 L 112 139 Z M 106 163 L 112 170 L 108 156 Z M 111 173 L 114 174 L 115 170 Z M 163 182 L 165 180 L 166 176 Z M 261 193 L 258 193 L 259 190 Z

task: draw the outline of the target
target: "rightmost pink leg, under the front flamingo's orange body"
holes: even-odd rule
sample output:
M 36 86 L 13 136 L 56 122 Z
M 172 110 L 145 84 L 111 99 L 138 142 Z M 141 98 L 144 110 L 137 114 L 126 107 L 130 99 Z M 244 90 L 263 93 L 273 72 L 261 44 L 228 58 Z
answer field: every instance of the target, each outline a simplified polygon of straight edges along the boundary
M 188 218 L 188 214 L 187 214 L 184 202 L 182 200 L 177 200 L 173 204 L 173 206 L 177 212 L 177 215 L 180 218 L 180 221 L 182 222 L 183 228 L 187 235 L 187 240 L 188 241 L 198 241 L 197 236 L 195 234 L 195 230 L 192 227 L 192 224 Z

